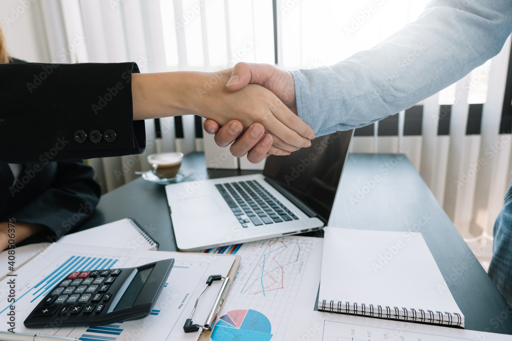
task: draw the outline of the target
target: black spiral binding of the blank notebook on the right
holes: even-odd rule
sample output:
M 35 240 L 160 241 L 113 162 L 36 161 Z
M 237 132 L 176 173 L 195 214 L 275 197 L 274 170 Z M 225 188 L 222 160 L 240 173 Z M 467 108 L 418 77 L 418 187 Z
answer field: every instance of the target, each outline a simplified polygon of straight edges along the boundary
M 335 303 L 334 301 L 327 302 L 327 300 L 322 300 L 322 308 L 318 310 L 338 314 L 375 317 L 376 319 L 419 322 L 454 327 L 461 327 L 463 323 L 460 314 L 456 312 L 425 311 L 423 309 L 408 309 L 404 307 L 382 307 L 380 305 L 374 307 L 373 304 L 357 304 L 356 302 L 338 301 Z

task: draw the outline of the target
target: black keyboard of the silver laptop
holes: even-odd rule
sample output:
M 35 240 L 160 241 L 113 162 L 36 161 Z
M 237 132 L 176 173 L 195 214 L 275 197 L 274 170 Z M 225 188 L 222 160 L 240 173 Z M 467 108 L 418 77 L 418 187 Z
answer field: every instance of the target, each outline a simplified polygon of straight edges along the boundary
M 243 228 L 247 228 L 249 223 L 260 226 L 298 219 L 258 181 L 238 181 L 217 184 L 215 187 Z

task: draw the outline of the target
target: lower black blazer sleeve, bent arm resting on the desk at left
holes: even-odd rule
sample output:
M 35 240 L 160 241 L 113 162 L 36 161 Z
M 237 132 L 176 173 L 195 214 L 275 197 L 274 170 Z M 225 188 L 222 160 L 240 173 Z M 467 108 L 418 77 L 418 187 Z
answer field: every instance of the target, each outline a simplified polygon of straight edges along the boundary
M 31 172 L 34 178 L 26 185 L 20 180 L 10 188 L 10 199 L 22 202 L 5 220 L 42 224 L 60 238 L 94 212 L 101 189 L 93 178 L 94 170 L 82 161 L 26 164 L 20 177 Z

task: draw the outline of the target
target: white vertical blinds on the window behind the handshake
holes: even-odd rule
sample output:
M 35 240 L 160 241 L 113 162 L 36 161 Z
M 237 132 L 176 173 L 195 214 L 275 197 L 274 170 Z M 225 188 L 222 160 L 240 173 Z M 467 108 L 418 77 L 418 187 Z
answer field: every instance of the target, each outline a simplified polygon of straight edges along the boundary
M 426 3 L 49 0 L 41 7 L 52 55 L 68 52 L 59 62 L 130 60 L 141 72 L 162 72 L 218 71 L 239 61 L 274 64 L 275 55 L 286 70 L 331 65 L 413 21 Z M 497 57 L 456 84 L 357 129 L 351 146 L 352 152 L 407 154 L 462 236 L 487 255 L 512 168 L 510 127 L 504 129 L 508 121 L 502 119 L 509 55 L 508 40 Z M 173 118 L 160 121 L 164 151 L 178 148 L 177 132 L 185 152 L 201 149 L 193 116 L 179 120 L 179 129 Z M 146 134 L 144 155 L 91 160 L 104 191 L 147 170 L 145 157 L 156 150 L 153 120 Z

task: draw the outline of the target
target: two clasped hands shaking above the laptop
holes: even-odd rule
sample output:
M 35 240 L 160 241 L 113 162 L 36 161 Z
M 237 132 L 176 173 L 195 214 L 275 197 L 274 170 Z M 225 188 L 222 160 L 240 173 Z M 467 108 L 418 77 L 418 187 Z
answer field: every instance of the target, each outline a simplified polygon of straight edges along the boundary
M 207 118 L 203 127 L 215 134 L 217 145 L 226 147 L 234 141 L 231 153 L 247 154 L 251 163 L 311 146 L 314 131 L 297 117 L 295 84 L 289 72 L 242 62 L 232 70 L 207 75 L 215 78 L 209 78 L 199 94 L 207 105 L 199 115 Z

